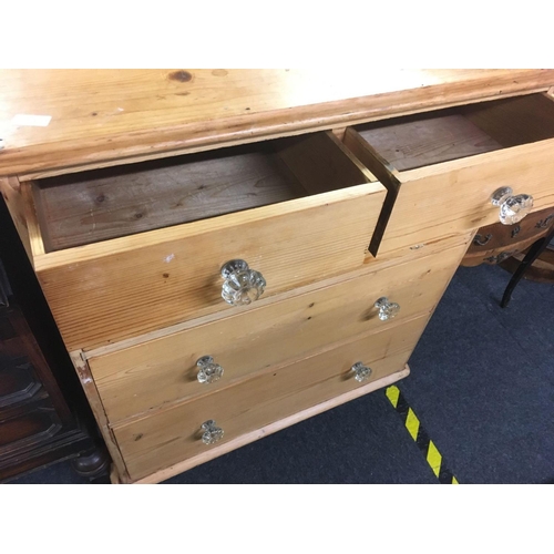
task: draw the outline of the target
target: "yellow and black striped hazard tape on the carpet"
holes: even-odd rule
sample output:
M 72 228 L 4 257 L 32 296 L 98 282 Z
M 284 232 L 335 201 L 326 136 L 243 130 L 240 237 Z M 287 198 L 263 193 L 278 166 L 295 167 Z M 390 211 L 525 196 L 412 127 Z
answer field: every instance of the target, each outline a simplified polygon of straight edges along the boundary
M 429 438 L 429 434 L 423 429 L 423 425 L 420 423 L 413 410 L 408 406 L 400 389 L 392 384 L 387 388 L 386 394 L 397 412 L 400 413 L 410 437 L 416 441 L 416 444 L 418 444 L 425 456 L 427 463 L 429 463 L 434 474 L 439 478 L 439 481 L 443 484 L 459 484 L 452 472 L 447 469 L 441 453 L 434 445 L 434 442 Z

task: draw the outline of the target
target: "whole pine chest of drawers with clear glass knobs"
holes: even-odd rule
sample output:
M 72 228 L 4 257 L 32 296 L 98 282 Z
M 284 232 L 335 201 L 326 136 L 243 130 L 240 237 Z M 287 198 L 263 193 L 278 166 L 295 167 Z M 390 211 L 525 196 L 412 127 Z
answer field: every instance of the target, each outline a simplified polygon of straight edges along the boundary
M 475 230 L 554 205 L 553 71 L 285 98 L 304 73 L 83 72 L 62 102 L 44 72 L 10 106 L 51 116 L 2 137 L 0 184 L 114 482 L 402 379 Z

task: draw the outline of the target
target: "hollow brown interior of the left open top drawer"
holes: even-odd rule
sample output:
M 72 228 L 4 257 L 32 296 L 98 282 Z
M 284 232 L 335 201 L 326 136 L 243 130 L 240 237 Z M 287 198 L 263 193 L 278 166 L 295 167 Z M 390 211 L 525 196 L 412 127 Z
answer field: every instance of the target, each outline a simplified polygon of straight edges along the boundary
M 332 135 L 267 141 L 33 183 L 45 252 L 375 182 Z

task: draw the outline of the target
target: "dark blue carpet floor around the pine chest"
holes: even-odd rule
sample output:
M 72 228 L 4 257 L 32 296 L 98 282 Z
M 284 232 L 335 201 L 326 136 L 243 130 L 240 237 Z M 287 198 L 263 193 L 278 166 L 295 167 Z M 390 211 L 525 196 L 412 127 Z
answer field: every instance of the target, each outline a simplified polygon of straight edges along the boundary
M 398 383 L 460 483 L 554 482 L 554 286 L 461 267 Z M 68 462 L 13 483 L 86 483 Z M 178 483 L 429 483 L 430 465 L 377 391 L 177 475 Z

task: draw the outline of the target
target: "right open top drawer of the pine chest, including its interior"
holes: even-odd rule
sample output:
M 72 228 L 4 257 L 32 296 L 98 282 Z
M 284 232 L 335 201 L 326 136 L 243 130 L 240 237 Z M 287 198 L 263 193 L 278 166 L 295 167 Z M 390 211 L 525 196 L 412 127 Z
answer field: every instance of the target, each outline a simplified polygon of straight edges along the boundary
M 343 143 L 389 189 L 373 255 L 499 222 L 500 207 L 491 202 L 499 188 L 532 196 L 533 211 L 554 205 L 547 94 L 349 127 Z

